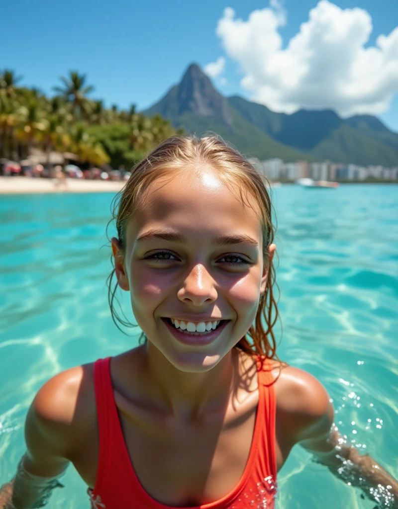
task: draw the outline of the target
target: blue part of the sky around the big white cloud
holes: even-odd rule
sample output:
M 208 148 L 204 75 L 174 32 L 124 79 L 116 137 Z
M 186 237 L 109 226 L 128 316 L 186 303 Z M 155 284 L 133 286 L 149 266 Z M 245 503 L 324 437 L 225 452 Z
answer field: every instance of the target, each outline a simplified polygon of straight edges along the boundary
M 274 0 L 274 7 L 276 4 L 280 5 L 280 1 Z M 282 51 L 299 33 L 300 25 L 308 21 L 309 11 L 317 4 L 311 0 L 286 0 L 281 5 L 285 22 L 277 27 L 277 32 L 282 38 Z M 370 15 L 373 31 L 364 44 L 365 49 L 374 46 L 379 35 L 388 36 L 398 26 L 396 0 L 334 0 L 333 4 L 340 9 L 360 8 Z M 309 107 L 311 98 L 306 98 L 305 94 L 292 94 L 291 88 L 283 93 L 269 89 L 269 78 L 263 77 L 255 67 L 261 63 L 254 62 L 250 68 L 246 66 L 250 60 L 250 47 L 241 51 L 233 44 L 239 37 L 237 19 L 242 19 L 251 30 L 250 14 L 269 8 L 269 5 L 255 0 L 116 0 L 112 3 L 7 0 L 1 8 L 6 22 L 2 23 L 0 38 L 0 69 L 14 69 L 23 76 L 22 84 L 38 87 L 46 93 L 52 93 L 52 87 L 59 84 L 59 76 L 77 70 L 86 73 L 88 82 L 95 86 L 92 97 L 104 99 L 107 105 L 116 103 L 121 107 L 135 103 L 141 109 L 160 99 L 172 84 L 179 81 L 191 62 L 204 68 L 222 56 L 225 58 L 224 70 L 222 75 L 214 77 L 214 83 L 224 95 L 239 94 L 268 102 L 271 108 L 277 105 L 279 110 L 294 108 L 294 105 Z M 221 31 L 222 35 L 217 35 L 217 27 L 225 18 L 228 7 L 234 11 L 233 20 L 230 19 L 229 27 Z M 365 23 L 363 16 L 361 19 L 362 24 Z M 339 21 L 336 23 L 338 26 Z M 299 70 L 297 72 L 300 74 Z M 365 87 L 367 78 L 364 76 Z M 242 84 L 243 78 L 251 83 L 249 87 Z M 283 75 L 278 79 L 283 79 Z M 385 79 L 391 81 L 388 76 Z M 321 85 L 322 89 L 324 85 Z M 302 86 L 305 92 L 304 81 Z M 354 83 L 355 86 L 358 85 Z M 378 89 L 375 90 L 377 93 Z M 322 105 L 321 94 L 314 102 L 315 107 L 336 104 L 341 107 L 340 114 L 350 111 L 345 97 L 333 102 L 334 98 L 329 97 L 333 93 L 333 89 L 325 90 L 328 104 Z M 369 94 L 372 95 L 372 91 Z M 389 102 L 387 99 L 384 97 L 383 107 Z M 366 101 L 370 100 L 364 97 L 364 105 L 361 102 L 358 106 L 361 111 L 366 109 Z M 375 98 L 372 101 L 369 102 L 371 113 L 381 107 L 375 105 Z M 398 86 L 387 111 L 378 116 L 398 131 Z

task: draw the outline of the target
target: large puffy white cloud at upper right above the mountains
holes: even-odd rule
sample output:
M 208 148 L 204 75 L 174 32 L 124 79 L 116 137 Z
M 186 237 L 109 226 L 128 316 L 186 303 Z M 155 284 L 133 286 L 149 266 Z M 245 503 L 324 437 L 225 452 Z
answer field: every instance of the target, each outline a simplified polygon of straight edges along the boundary
M 283 49 L 283 4 L 271 0 L 270 6 L 247 21 L 227 8 L 216 31 L 253 100 L 288 113 L 301 107 L 332 108 L 342 116 L 388 109 L 398 92 L 398 26 L 365 48 L 370 15 L 321 0 Z

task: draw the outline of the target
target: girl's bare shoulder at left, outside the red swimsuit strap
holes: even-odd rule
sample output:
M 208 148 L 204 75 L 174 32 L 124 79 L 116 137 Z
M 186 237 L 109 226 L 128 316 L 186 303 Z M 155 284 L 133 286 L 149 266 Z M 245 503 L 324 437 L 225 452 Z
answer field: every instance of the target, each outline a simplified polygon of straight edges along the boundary
M 39 389 L 26 417 L 25 435 L 28 440 L 30 433 L 46 436 L 68 458 L 94 422 L 93 364 L 85 364 L 59 373 Z

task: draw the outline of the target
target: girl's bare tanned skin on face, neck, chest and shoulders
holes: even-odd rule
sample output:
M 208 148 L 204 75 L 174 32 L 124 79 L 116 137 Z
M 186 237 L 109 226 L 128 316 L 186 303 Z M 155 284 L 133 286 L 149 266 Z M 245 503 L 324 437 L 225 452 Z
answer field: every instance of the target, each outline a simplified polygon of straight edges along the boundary
M 258 210 L 211 168 L 156 181 L 112 239 L 119 286 L 148 342 L 112 358 L 111 378 L 127 451 L 140 483 L 171 506 L 230 492 L 244 471 L 258 387 L 253 359 L 232 347 L 248 331 L 266 288 Z M 269 246 L 270 258 L 275 245 Z M 203 346 L 181 343 L 164 318 L 226 320 Z M 276 461 L 306 441 L 330 451 L 333 407 L 322 384 L 275 361 Z M 243 383 L 241 383 L 243 382 Z M 43 431 L 44 430 L 44 431 Z M 71 461 L 91 488 L 98 465 L 93 363 L 50 379 L 26 421 L 25 466 L 51 476 Z M 49 437 L 49 438 L 48 438 Z

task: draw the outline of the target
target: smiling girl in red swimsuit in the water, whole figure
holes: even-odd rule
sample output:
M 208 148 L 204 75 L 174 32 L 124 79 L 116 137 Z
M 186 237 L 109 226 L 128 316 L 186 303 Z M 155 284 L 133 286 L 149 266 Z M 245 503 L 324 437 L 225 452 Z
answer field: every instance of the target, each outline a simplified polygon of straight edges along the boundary
M 129 292 L 140 344 L 41 387 L 0 507 L 42 507 L 72 463 L 94 509 L 271 509 L 299 443 L 396 509 L 398 483 L 340 436 L 324 386 L 276 354 L 264 177 L 217 137 L 172 137 L 117 197 L 109 301 L 128 325 Z

